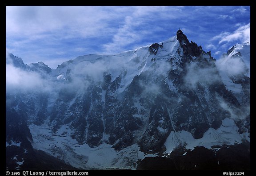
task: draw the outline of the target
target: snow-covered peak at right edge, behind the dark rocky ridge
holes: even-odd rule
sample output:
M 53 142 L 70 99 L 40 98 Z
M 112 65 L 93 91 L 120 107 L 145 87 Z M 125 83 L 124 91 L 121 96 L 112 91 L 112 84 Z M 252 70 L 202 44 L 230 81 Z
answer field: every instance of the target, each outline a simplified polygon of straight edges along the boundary
M 236 44 L 216 61 L 222 81 L 240 104 L 250 107 L 250 43 Z

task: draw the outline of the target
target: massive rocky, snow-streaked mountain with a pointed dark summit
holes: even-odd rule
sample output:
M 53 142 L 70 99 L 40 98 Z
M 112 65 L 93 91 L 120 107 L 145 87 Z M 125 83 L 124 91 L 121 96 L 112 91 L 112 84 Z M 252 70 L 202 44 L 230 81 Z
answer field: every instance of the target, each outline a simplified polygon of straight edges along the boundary
M 244 48 L 230 49 L 229 63 L 234 55 L 244 59 L 236 52 L 242 55 Z M 25 65 L 9 54 L 6 70 L 18 78 L 12 81 L 7 74 L 6 152 L 13 146 L 20 151 L 17 156 L 41 150 L 82 169 L 143 169 L 148 157 L 184 155 L 189 161 L 199 151 L 212 156 L 225 146 L 248 151 L 250 77 L 246 71 L 229 74 L 222 66 L 227 61 L 216 61 L 181 30 L 164 42 L 80 56 L 56 69 L 43 62 Z M 240 94 L 227 78 L 240 84 Z M 234 156 L 247 161 L 245 169 L 248 154 L 244 160 Z M 26 164 L 27 157 L 15 156 L 6 154 L 8 163 L 27 169 L 20 161 Z M 212 162 L 218 165 L 224 157 L 221 153 Z

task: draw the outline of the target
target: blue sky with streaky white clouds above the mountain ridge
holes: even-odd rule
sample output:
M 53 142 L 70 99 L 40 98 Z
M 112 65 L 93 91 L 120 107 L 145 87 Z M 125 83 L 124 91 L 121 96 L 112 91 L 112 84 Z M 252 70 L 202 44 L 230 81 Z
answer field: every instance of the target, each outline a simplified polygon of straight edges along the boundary
M 250 6 L 6 6 L 6 50 L 52 69 L 162 42 L 181 29 L 214 58 L 250 42 Z

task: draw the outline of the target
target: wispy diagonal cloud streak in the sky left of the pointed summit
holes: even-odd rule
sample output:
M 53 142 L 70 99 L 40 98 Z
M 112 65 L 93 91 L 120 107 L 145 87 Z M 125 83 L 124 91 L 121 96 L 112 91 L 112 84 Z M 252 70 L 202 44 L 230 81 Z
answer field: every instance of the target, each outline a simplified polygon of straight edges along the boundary
M 172 16 L 163 15 L 170 10 L 170 7 L 166 6 L 136 6 L 132 8 L 132 12 L 124 18 L 124 24 L 113 35 L 112 41 L 103 45 L 104 53 L 114 54 L 117 51 L 125 51 L 127 47 L 131 50 L 136 49 L 136 42 L 144 40 L 156 31 L 163 31 L 160 26 L 154 24 L 157 21 L 157 18 L 154 18 L 155 16 L 161 20 L 175 19 L 177 18 L 175 13 L 180 8 L 182 7 L 173 10 Z

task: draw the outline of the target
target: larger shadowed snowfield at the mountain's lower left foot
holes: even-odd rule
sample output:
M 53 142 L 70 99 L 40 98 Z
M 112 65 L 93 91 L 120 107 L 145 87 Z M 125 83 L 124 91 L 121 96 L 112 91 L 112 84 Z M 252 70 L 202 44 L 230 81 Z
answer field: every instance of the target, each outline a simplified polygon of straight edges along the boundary
M 137 144 L 119 152 L 106 143 L 96 148 L 91 148 L 87 144 L 79 145 L 75 139 L 70 137 L 72 130 L 67 125 L 63 125 L 55 134 L 46 124 L 42 126 L 32 124 L 29 128 L 34 140 L 33 148 L 43 150 L 76 168 L 136 169 L 138 159 L 155 156 L 144 155 Z

